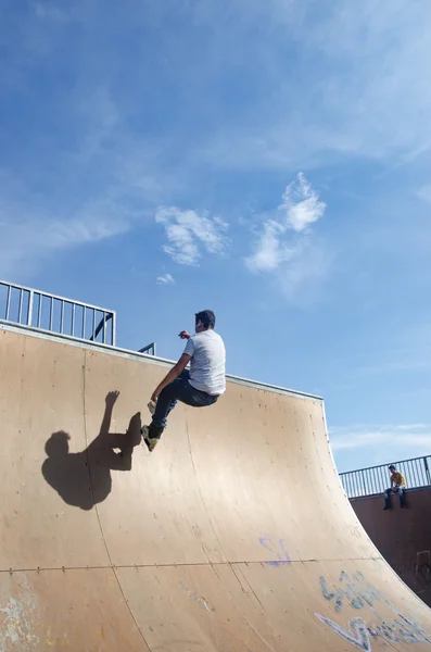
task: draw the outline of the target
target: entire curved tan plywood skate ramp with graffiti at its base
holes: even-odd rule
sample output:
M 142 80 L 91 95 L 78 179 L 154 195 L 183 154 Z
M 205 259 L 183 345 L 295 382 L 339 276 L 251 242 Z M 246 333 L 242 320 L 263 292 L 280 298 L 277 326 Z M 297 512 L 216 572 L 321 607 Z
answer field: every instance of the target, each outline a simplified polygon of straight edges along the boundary
M 0 327 L 0 652 L 431 651 L 431 612 L 344 496 L 322 402 L 230 379 L 150 454 L 165 373 Z

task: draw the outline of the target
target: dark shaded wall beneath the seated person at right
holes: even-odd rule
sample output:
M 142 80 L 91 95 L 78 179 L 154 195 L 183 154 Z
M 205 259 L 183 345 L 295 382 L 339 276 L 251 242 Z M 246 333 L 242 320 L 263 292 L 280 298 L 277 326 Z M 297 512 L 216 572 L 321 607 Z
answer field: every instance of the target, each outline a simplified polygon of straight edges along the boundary
M 351 500 L 357 517 L 379 552 L 405 584 L 431 606 L 431 487 L 410 489 L 407 507 L 402 510 L 392 496 L 392 510 L 383 511 L 384 498 L 372 496 Z

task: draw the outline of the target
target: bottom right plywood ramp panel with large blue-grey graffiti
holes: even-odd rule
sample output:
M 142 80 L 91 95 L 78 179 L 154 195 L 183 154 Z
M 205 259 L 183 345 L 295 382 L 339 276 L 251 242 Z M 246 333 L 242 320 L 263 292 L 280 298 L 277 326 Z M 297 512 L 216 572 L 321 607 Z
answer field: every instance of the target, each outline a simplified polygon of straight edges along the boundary
M 429 609 L 380 560 L 233 566 L 282 650 L 429 650 Z M 410 645 L 414 644 L 414 648 Z

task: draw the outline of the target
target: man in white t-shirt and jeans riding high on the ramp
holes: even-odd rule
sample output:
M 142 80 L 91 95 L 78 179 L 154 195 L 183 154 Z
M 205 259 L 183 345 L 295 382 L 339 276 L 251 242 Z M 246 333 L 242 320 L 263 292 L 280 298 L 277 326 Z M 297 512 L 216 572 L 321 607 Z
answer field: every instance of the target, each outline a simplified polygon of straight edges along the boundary
M 149 403 L 153 414 L 149 426 L 141 429 L 150 452 L 157 444 L 169 412 L 177 401 L 192 408 L 213 405 L 226 391 L 226 350 L 221 337 L 214 331 L 215 315 L 211 310 L 195 314 L 195 335 L 181 330 L 187 344 L 177 364 L 155 388 Z M 190 372 L 186 366 L 190 362 Z

